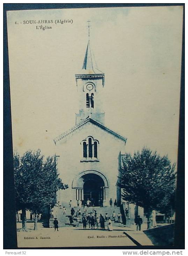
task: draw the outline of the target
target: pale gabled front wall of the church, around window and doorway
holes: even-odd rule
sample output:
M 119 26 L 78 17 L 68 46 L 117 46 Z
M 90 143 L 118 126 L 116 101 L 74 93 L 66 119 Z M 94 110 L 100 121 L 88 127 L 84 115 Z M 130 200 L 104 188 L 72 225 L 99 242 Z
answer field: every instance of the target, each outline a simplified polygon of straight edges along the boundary
M 94 140 L 99 142 L 97 145 L 97 159 L 91 159 L 94 162 L 87 162 L 89 158 L 85 159 L 83 157 L 83 144 L 81 142 L 88 136 L 92 136 Z M 92 173 L 96 175 L 98 172 L 104 180 L 106 187 L 103 206 L 109 206 L 110 198 L 112 198 L 113 203 L 115 199 L 120 201 L 119 197 L 121 195 L 120 193 L 117 194 L 116 182 L 118 176 L 118 154 L 120 150 L 122 152 L 125 150 L 124 141 L 88 122 L 65 138 L 57 141 L 56 147 L 59 177 L 64 183 L 68 184 L 68 189 L 58 191 L 57 194 L 57 201 L 61 202 L 62 206 L 67 206 L 70 200 L 72 200 L 72 206 L 76 206 L 78 193 L 79 199 L 81 199 L 81 188 L 76 192 L 74 187 L 77 184 L 77 178 L 79 178 L 80 173 L 84 175 L 89 174 L 90 171 L 93 171 Z M 79 186 L 82 185 L 78 184 L 78 189 Z

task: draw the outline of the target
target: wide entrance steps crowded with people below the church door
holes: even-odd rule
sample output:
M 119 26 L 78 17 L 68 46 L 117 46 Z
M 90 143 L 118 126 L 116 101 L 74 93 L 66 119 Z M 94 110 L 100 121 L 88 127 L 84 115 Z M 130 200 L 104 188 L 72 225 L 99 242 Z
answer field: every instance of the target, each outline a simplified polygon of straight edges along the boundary
M 77 220 L 77 217 L 76 217 L 76 213 L 77 211 L 80 209 L 80 212 L 81 212 L 81 215 L 84 213 L 84 208 L 78 208 L 78 207 L 74 207 L 73 208 L 75 213 L 74 213 L 74 217 L 73 217 L 73 225 L 76 225 L 76 220 Z M 97 217 L 100 217 L 100 214 L 102 214 L 102 216 L 105 218 L 105 214 L 108 213 L 108 217 L 111 218 L 111 220 L 113 220 L 113 212 L 115 212 L 116 214 L 116 217 L 115 217 L 115 222 L 113 221 L 113 225 L 114 226 L 121 226 L 121 227 L 124 227 L 124 224 L 122 224 L 122 217 L 120 219 L 120 223 L 118 222 L 118 219 L 117 219 L 117 214 L 118 213 L 121 213 L 121 209 L 120 207 L 87 207 L 87 210 L 86 210 L 86 215 L 91 215 L 91 216 L 94 216 L 94 210 L 96 210 L 96 213 L 97 213 Z M 53 209 L 53 216 L 54 218 L 57 218 L 58 220 L 58 223 L 59 223 L 59 227 L 66 227 L 67 225 L 70 225 L 70 221 L 69 221 L 69 217 L 71 215 L 71 208 L 67 208 L 66 210 L 66 214 L 63 214 L 63 210 L 62 209 L 59 209 L 56 207 L 56 209 L 54 208 Z M 82 219 L 82 216 L 80 216 L 80 219 Z M 129 223 L 129 220 L 127 220 L 127 224 Z M 81 223 L 81 221 L 80 221 Z M 50 220 L 50 227 L 53 227 L 53 220 Z

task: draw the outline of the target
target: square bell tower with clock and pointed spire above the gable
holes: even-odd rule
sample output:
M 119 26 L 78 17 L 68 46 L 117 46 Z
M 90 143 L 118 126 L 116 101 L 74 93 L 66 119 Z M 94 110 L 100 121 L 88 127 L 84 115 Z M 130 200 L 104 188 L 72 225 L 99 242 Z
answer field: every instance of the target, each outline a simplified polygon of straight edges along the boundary
M 88 21 L 88 43 L 82 70 L 75 74 L 79 98 L 79 113 L 76 114 L 76 124 L 90 117 L 104 124 L 102 110 L 102 89 L 104 87 L 104 73 L 96 65 L 90 43 L 90 25 Z

